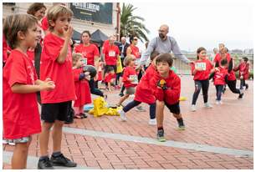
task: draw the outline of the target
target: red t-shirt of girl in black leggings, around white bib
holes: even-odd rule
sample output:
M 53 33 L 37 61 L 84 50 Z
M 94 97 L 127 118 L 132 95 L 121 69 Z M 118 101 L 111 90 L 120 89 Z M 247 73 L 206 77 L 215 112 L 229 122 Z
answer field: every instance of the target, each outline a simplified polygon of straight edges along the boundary
M 206 68 L 205 68 L 205 70 L 197 71 L 197 73 L 194 74 L 194 80 L 206 80 L 206 79 L 208 79 L 209 74 L 211 73 L 211 69 L 212 69 L 211 61 L 208 60 L 208 59 L 195 61 L 195 64 L 192 65 L 192 72 L 196 68 L 195 67 L 196 63 L 202 63 L 202 65 L 205 65 Z

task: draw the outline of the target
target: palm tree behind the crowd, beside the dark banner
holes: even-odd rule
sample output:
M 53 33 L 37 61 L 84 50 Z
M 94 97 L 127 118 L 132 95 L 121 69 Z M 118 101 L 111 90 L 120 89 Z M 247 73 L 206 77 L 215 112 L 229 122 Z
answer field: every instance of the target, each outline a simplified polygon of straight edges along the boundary
M 150 33 L 150 31 L 142 23 L 145 19 L 139 16 L 133 16 L 132 12 L 134 10 L 136 10 L 136 8 L 134 8 L 133 5 L 125 5 L 125 3 L 123 3 L 120 13 L 120 38 L 134 35 L 138 37 L 141 42 L 143 42 L 143 40 L 148 41 L 146 34 Z

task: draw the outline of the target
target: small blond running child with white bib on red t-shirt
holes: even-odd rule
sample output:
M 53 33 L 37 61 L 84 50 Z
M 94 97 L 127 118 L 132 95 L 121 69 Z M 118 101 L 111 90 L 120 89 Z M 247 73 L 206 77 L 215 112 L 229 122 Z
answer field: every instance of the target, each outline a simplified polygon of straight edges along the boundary
M 135 69 L 135 61 L 136 57 L 134 55 L 126 56 L 124 63 L 125 63 L 125 70 L 123 73 L 123 83 L 126 89 L 126 93 L 123 97 L 120 98 L 120 101 L 117 106 L 120 106 L 125 99 L 128 99 L 130 95 L 135 94 L 135 87 L 138 84 L 138 76 Z M 120 116 L 122 118 L 122 116 Z M 125 120 L 125 118 L 123 118 Z

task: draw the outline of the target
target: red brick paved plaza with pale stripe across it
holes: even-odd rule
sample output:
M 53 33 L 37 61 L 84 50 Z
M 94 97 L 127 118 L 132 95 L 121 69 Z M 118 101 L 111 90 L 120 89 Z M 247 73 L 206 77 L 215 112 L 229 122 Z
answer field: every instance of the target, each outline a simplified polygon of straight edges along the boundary
M 62 142 L 64 155 L 78 164 L 74 169 L 253 169 L 253 81 L 247 82 L 249 89 L 241 100 L 227 89 L 222 105 L 215 104 L 211 82 L 208 94 L 213 108 L 203 108 L 200 94 L 197 111 L 191 112 L 192 76 L 181 78 L 182 96 L 187 98 L 180 102 L 186 130 L 177 130 L 176 119 L 165 109 L 167 141 L 158 142 L 156 126 L 148 124 L 147 104 L 142 104 L 146 112 L 128 112 L 126 122 L 106 115 L 74 119 L 74 124 L 64 126 Z M 109 94 L 108 103 L 117 103 L 118 93 Z M 3 169 L 11 169 L 13 148 L 3 145 Z M 38 135 L 33 135 L 28 169 L 37 168 L 39 155 Z

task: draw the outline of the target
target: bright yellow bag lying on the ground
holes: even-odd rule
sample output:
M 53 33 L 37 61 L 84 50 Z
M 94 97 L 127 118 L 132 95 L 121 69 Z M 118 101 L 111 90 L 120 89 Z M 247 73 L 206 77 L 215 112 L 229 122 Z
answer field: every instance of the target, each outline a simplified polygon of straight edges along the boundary
M 106 102 L 102 97 L 94 99 L 94 117 L 102 116 L 107 111 Z

